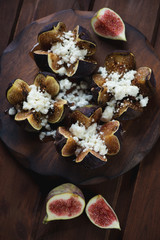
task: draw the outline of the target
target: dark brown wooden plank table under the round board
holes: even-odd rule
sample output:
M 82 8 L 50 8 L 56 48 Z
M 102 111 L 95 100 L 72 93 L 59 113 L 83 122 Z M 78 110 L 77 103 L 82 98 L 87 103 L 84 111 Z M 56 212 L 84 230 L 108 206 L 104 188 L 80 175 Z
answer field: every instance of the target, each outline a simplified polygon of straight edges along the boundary
M 96 11 L 109 7 L 140 30 L 160 56 L 159 0 L 0 0 L 0 54 L 33 20 L 63 9 Z M 3 89 L 1 89 L 3 91 Z M 121 231 L 101 230 L 85 214 L 70 221 L 42 224 L 46 179 L 23 168 L 0 144 L 0 239 L 3 240 L 158 240 L 160 239 L 160 139 L 135 168 L 113 180 L 80 186 L 102 194 L 116 211 Z M 43 185 L 45 182 L 45 187 Z M 60 184 L 63 180 L 55 182 Z M 48 187 L 46 187 L 48 186 Z

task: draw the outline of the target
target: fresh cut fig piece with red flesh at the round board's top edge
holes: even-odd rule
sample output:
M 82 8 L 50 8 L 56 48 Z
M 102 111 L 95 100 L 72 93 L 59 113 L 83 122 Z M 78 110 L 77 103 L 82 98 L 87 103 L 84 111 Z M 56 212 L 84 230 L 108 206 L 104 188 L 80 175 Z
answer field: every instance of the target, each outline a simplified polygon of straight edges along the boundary
M 101 37 L 126 41 L 122 18 L 109 8 L 100 9 L 91 19 L 91 25 L 94 32 Z

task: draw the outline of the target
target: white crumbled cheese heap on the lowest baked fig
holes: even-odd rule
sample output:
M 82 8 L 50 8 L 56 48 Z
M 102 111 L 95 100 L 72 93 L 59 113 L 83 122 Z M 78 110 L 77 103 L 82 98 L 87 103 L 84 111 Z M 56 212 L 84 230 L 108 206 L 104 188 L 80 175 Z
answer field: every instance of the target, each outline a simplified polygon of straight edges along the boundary
M 78 122 L 72 124 L 69 131 L 73 134 L 73 138 L 79 147 L 86 151 L 88 149 L 98 152 L 100 155 L 106 155 L 108 152 L 107 146 L 97 132 L 97 123 L 93 123 L 86 128 L 84 125 L 79 125 Z M 79 147 L 76 153 L 79 153 Z

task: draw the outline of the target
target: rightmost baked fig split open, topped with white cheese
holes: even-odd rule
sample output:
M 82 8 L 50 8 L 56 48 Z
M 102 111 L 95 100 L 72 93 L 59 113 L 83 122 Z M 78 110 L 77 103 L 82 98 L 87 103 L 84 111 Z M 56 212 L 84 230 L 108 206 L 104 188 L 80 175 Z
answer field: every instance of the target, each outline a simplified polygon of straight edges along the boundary
M 155 89 L 153 71 L 149 67 L 136 69 L 134 55 L 127 51 L 109 54 L 105 67 L 100 67 L 92 79 L 91 91 L 104 109 L 104 122 L 140 116 Z

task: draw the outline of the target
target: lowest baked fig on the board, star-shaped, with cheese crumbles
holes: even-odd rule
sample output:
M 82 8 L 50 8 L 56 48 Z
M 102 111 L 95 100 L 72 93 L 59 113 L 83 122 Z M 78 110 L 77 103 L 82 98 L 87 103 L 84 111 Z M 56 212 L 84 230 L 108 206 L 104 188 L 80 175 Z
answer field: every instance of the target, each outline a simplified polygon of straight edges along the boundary
M 75 155 L 76 163 L 92 169 L 104 165 L 107 155 L 116 155 L 119 152 L 117 132 L 120 130 L 120 123 L 110 121 L 103 125 L 97 124 L 101 117 L 101 108 L 95 109 L 90 117 L 80 111 L 75 111 L 73 117 L 76 122 L 69 128 L 57 129 L 55 144 L 63 157 Z

